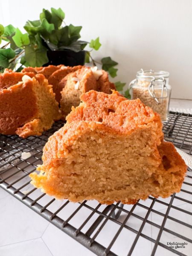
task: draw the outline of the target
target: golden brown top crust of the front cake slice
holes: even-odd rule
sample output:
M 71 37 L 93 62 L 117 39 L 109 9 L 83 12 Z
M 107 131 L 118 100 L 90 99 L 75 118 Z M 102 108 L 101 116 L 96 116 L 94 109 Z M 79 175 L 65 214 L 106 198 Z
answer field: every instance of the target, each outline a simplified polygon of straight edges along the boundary
M 140 99 L 128 100 L 117 91 L 110 95 L 90 90 L 81 95 L 81 101 L 83 103 L 73 108 L 67 116 L 68 123 L 80 120 L 102 122 L 116 131 L 127 133 L 139 125 L 157 122 L 159 132 L 163 136 L 160 116 L 145 106 Z

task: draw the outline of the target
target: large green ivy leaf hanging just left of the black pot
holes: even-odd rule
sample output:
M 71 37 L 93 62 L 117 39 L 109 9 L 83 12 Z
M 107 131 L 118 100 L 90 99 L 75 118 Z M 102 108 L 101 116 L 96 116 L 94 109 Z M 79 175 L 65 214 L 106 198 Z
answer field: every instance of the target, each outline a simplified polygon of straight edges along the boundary
M 31 67 L 41 67 L 49 61 L 46 49 L 35 49 L 32 46 L 25 47 L 25 59 Z

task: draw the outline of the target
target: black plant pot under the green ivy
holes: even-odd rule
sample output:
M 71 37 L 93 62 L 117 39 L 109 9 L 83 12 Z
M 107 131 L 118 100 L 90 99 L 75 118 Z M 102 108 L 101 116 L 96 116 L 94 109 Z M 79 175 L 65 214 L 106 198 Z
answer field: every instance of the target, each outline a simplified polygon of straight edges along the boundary
M 44 64 L 44 67 L 47 67 L 49 65 L 57 66 L 60 64 L 73 67 L 77 65 L 84 65 L 85 51 L 47 51 L 47 57 L 49 59 L 49 62 Z

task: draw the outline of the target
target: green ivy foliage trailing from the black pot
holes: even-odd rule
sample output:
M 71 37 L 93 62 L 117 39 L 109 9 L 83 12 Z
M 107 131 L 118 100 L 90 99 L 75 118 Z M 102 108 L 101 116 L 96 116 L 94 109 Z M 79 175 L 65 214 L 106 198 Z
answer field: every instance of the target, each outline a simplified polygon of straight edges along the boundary
M 6 44 L 0 48 L 0 72 L 5 68 L 11 68 L 17 72 L 24 67 L 41 67 L 49 60 L 47 51 L 51 50 L 72 50 L 79 52 L 84 50 L 85 63 L 102 65 L 102 69 L 114 78 L 117 76 L 118 63 L 111 57 L 102 58 L 95 61 L 91 56 L 93 50 L 98 51 L 102 46 L 99 37 L 90 42 L 81 41 L 80 32 L 82 26 L 66 25 L 64 22 L 65 14 L 59 9 L 51 8 L 51 11 L 43 9 L 39 20 L 28 20 L 24 26 L 26 33 L 12 25 L 3 26 L 0 24 L 0 44 Z M 63 26 L 64 25 L 64 26 Z M 85 49 L 89 46 L 89 50 Z M 117 90 L 122 91 L 125 83 L 117 81 Z M 125 91 L 125 96 L 130 98 L 129 91 Z

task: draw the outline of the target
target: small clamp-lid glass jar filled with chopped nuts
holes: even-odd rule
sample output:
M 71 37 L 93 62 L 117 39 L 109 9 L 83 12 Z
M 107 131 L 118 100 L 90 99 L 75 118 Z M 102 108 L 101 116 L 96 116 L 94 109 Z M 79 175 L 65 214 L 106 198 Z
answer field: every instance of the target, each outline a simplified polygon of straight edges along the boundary
M 162 121 L 167 120 L 171 96 L 168 72 L 141 69 L 129 84 L 129 89 L 131 99 L 139 98 L 159 113 Z

